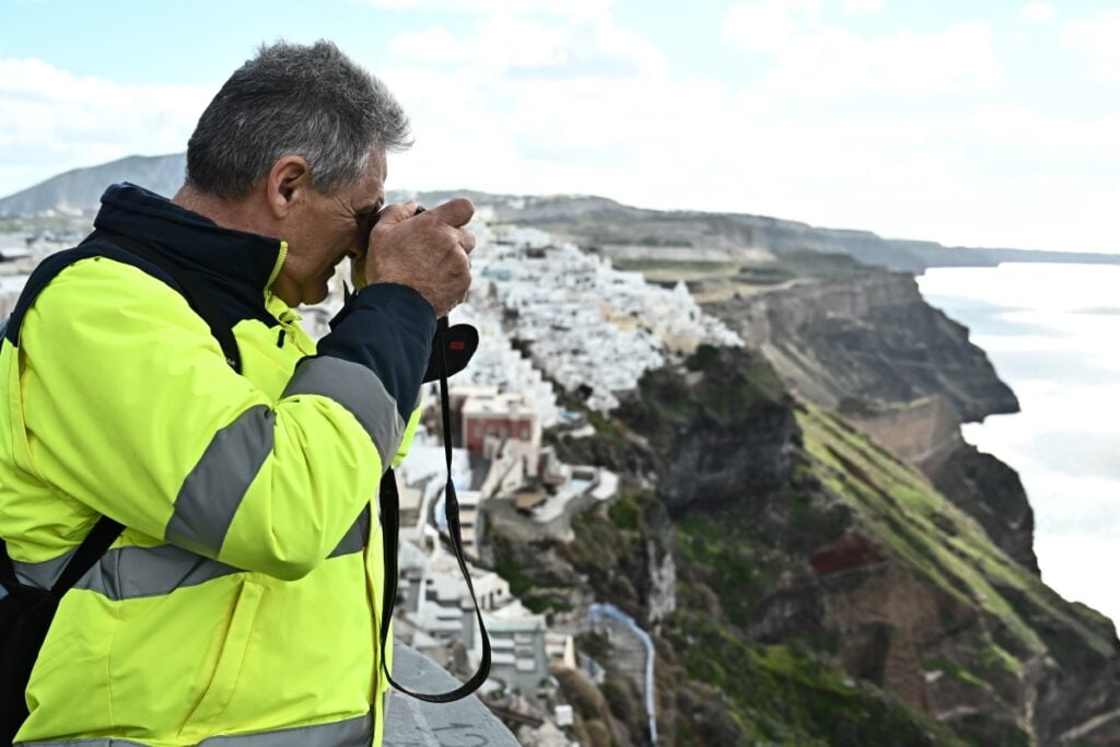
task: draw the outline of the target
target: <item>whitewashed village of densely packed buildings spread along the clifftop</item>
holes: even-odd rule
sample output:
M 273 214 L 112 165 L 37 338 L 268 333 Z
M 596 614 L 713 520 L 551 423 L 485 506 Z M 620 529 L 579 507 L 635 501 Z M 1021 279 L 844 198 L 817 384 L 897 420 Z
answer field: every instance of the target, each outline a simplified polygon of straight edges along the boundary
M 652 741 L 653 669 L 650 638 L 613 607 L 531 609 L 511 582 L 486 567 L 487 523 L 526 542 L 567 541 L 573 519 L 609 505 L 619 477 L 596 465 L 562 463 L 544 431 L 566 438 L 595 426 L 561 404 L 558 389 L 590 411 L 607 413 L 642 374 L 691 354 L 698 345 L 743 342 L 703 314 L 682 283 L 664 288 L 641 273 L 616 270 L 609 259 L 531 227 L 497 224 L 480 209 L 472 224 L 474 282 L 450 323 L 479 332 L 467 368 L 450 380 L 454 435 L 451 479 L 460 504 L 464 548 L 492 644 L 484 702 L 516 726 L 521 744 L 578 745 L 572 707 L 556 673 L 580 670 L 601 683 L 605 662 L 580 652 L 576 638 L 607 636 L 624 661 L 613 662 L 643 693 Z M 0 235 L 0 317 L 11 312 L 31 269 L 74 245 L 80 234 Z M 329 329 L 340 308 L 345 265 L 330 298 L 300 309 L 312 337 Z M 516 345 L 515 345 L 516 342 Z M 531 353 L 522 351 L 528 347 Z M 396 470 L 400 487 L 400 581 L 394 635 L 440 666 L 468 675 L 482 656 L 482 635 L 466 585 L 446 541 L 445 449 L 439 437 L 438 384 L 426 385 L 426 417 L 410 456 Z M 533 605 L 539 607 L 539 605 Z

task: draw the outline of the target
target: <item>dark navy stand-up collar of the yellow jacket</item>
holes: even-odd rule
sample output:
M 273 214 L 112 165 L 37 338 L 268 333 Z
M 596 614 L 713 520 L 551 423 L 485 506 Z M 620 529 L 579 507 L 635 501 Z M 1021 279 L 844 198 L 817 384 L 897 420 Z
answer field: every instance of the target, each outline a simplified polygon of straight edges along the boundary
M 240 287 L 242 292 L 251 288 L 259 302 L 287 254 L 287 244 L 279 239 L 224 228 L 128 181 L 105 190 L 93 224 L 143 242 L 214 282 Z

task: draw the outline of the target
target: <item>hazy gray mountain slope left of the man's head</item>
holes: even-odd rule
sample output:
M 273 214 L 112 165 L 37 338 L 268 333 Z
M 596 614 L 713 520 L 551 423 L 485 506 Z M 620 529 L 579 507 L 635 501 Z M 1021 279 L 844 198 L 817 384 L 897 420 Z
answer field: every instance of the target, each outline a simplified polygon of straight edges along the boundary
M 74 169 L 0 199 L 0 217 L 93 211 L 101 204 L 105 187 L 116 181 L 132 181 L 170 196 L 183 186 L 186 168 L 186 153 L 172 153 L 129 156 L 101 166 Z

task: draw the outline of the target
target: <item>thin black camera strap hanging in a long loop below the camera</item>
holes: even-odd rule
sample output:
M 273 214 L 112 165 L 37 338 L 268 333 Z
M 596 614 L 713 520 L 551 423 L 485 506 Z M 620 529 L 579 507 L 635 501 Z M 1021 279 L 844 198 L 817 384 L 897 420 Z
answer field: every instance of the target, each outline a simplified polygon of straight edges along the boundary
M 396 492 L 396 477 L 393 470 L 388 470 L 381 479 L 381 527 L 382 547 L 384 549 L 385 581 L 381 603 L 381 670 L 389 678 L 390 684 L 401 692 L 412 695 L 418 700 L 429 703 L 449 703 L 452 700 L 466 698 L 482 687 L 489 676 L 491 669 L 491 645 L 489 636 L 486 634 L 486 625 L 483 623 L 483 613 L 478 608 L 478 599 L 475 598 L 475 586 L 470 581 L 470 573 L 467 570 L 467 561 L 463 557 L 463 531 L 459 526 L 459 499 L 455 494 L 455 484 L 451 482 L 451 405 L 447 392 L 447 318 L 439 320 L 436 332 L 436 357 L 439 365 L 439 395 L 444 414 L 444 457 L 447 461 L 447 487 L 444 493 L 444 512 L 447 514 L 447 531 L 451 539 L 451 549 L 455 550 L 455 559 L 459 562 L 459 571 L 467 582 L 467 590 L 470 592 L 470 601 L 475 605 L 475 616 L 478 618 L 478 632 L 483 636 L 483 657 L 478 663 L 478 670 L 467 682 L 450 692 L 423 693 L 413 692 L 408 688 L 402 688 L 385 664 L 385 643 L 389 639 L 389 626 L 392 622 L 393 607 L 396 606 L 396 553 L 400 543 L 400 496 Z M 477 336 L 476 336 L 477 344 Z M 472 351 L 473 352 L 473 351 Z M 464 364 L 465 365 L 465 364 Z

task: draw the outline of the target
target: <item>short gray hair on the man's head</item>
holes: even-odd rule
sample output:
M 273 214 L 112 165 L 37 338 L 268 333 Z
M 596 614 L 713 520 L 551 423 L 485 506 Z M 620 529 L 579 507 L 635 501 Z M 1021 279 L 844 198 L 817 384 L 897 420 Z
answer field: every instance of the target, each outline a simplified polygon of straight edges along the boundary
M 302 156 L 321 194 L 353 184 L 374 148 L 412 144 L 385 85 L 330 41 L 262 46 L 237 68 L 187 144 L 187 184 L 222 198 L 244 195 L 284 156 Z

